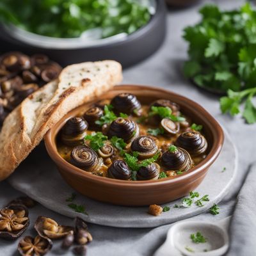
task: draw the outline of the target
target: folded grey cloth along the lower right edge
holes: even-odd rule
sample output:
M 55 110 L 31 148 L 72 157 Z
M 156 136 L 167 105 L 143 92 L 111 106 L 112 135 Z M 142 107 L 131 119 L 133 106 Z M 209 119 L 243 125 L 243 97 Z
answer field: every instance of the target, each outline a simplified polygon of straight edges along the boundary
M 230 249 L 227 256 L 255 256 L 256 253 L 256 163 L 244 181 L 230 224 Z

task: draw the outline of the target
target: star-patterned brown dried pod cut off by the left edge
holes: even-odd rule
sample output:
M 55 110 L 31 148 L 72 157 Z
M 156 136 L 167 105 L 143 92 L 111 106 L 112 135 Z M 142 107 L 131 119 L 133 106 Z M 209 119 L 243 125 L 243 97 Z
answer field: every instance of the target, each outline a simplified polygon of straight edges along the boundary
M 28 225 L 28 209 L 25 205 L 13 204 L 0 210 L 0 237 L 17 239 Z

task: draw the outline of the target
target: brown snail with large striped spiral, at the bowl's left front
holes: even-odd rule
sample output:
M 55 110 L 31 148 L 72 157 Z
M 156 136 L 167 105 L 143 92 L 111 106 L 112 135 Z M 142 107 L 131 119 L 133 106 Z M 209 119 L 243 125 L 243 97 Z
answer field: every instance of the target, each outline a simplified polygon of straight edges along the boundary
M 97 172 L 102 166 L 102 158 L 99 158 L 92 148 L 80 145 L 73 148 L 70 155 L 70 163 L 86 172 Z

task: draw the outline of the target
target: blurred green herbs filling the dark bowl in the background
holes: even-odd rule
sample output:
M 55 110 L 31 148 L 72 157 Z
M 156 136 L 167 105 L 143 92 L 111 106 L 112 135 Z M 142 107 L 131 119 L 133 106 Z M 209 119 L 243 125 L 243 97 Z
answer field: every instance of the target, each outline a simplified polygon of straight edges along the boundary
M 79 37 L 88 29 L 98 28 L 99 36 L 105 38 L 130 34 L 147 24 L 147 6 L 135 0 L 1 0 L 0 21 L 60 38 Z

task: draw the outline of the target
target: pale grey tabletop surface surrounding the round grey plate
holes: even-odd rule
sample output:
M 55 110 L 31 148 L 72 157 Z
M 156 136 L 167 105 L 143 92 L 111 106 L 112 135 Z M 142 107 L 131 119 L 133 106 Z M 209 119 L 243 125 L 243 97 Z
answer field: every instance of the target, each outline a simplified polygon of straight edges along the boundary
M 221 8 L 228 9 L 237 7 L 244 1 L 220 0 L 216 2 L 218 2 Z M 163 46 L 152 57 L 125 70 L 124 83 L 150 84 L 186 95 L 190 99 L 202 104 L 221 124 L 225 125 L 225 128 L 236 144 L 239 154 L 239 168 L 236 183 L 233 188 L 230 188 L 228 195 L 222 200 L 219 215 L 212 216 L 209 213 L 205 213 L 193 217 L 193 220 L 215 221 L 232 214 L 234 211 L 236 195 L 243 184 L 248 167 L 255 161 L 256 125 L 246 125 L 239 117 L 230 118 L 229 116 L 221 115 L 217 97 L 198 90 L 182 77 L 180 69 L 183 61 L 187 58 L 187 45 L 181 37 L 182 29 L 199 19 L 199 15 L 197 14 L 198 7 L 194 6 L 186 10 L 177 10 L 168 13 L 168 31 Z M 6 181 L 0 183 L 0 205 L 6 204 L 16 196 L 20 196 L 20 192 L 15 191 Z M 41 205 L 37 205 L 31 209 L 31 223 L 34 223 L 36 216 L 42 214 L 54 218 L 60 223 L 72 223 L 71 219 L 49 211 Z M 157 228 L 111 228 L 89 225 L 94 240 L 88 246 L 87 255 L 152 255 L 163 243 L 169 227 L 170 225 L 163 225 Z M 35 235 L 32 225 L 30 225 L 26 234 Z M 17 242 L 15 241 L 13 243 L 1 240 L 0 255 L 17 255 Z M 65 253 L 60 251 L 59 247 L 60 244 L 56 243 L 49 255 L 72 255 L 71 252 Z

